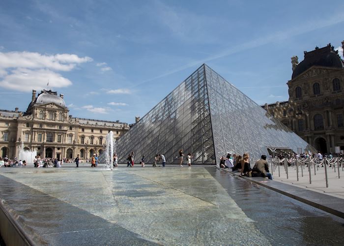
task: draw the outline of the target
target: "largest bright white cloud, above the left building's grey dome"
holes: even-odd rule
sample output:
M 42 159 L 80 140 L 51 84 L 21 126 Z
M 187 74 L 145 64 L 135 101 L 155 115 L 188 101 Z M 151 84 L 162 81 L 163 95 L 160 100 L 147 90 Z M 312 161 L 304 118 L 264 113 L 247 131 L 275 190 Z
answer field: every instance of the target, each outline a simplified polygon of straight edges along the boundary
M 67 87 L 72 82 L 56 71 L 70 71 L 78 64 L 91 61 L 89 57 L 74 54 L 0 52 L 0 87 L 29 92 L 44 89 L 48 80 L 51 87 Z

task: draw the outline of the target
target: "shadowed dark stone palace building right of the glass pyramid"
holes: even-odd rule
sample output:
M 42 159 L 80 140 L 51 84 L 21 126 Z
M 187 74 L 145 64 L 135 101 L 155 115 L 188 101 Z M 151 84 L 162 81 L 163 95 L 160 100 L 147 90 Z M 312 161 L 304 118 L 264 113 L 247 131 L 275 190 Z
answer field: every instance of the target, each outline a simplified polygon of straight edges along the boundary
M 343 153 L 344 61 L 328 44 L 291 63 L 289 100 L 262 107 L 320 152 Z

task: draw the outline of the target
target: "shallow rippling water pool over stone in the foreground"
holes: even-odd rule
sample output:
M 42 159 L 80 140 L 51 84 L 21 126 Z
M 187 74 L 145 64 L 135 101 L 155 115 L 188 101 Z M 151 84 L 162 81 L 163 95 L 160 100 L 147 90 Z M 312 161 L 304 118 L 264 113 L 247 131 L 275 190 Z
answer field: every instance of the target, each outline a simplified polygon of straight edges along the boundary
M 0 171 L 37 245 L 343 245 L 344 219 L 212 166 Z

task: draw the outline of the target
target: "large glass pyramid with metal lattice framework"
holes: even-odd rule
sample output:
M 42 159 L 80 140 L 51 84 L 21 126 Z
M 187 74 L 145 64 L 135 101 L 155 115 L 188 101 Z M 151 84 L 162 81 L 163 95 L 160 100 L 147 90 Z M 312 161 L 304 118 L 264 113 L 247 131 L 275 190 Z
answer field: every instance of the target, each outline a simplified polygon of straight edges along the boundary
M 227 152 L 259 158 L 269 147 L 314 151 L 203 64 L 118 139 L 117 154 L 120 163 L 132 151 L 136 162 L 144 155 L 152 163 L 156 154 L 164 154 L 167 163 L 177 163 L 183 149 L 193 155 L 193 164 L 218 164 Z

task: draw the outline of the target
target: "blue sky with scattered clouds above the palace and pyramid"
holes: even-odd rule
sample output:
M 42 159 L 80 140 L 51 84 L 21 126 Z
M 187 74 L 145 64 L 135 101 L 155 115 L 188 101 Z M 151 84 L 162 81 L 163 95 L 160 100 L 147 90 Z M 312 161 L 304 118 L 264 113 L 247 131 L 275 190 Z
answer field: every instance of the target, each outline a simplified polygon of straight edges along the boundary
M 32 89 L 133 123 L 202 63 L 258 104 L 288 99 L 290 57 L 344 40 L 344 1 L 1 0 L 0 109 Z

